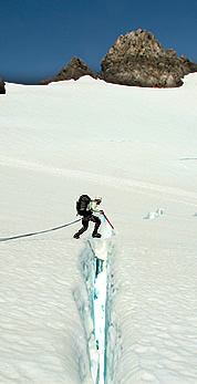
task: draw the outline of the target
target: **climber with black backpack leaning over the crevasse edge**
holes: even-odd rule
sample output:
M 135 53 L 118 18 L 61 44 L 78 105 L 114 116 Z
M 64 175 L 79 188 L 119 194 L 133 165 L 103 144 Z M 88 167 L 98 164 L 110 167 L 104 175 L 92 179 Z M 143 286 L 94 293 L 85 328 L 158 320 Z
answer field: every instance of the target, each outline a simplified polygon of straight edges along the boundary
M 95 222 L 92 237 L 101 238 L 101 233 L 97 232 L 101 226 L 101 220 L 97 216 L 93 215 L 93 212 L 104 214 L 103 210 L 98 209 L 97 207 L 101 203 L 102 203 L 101 197 L 96 197 L 94 200 L 92 200 L 87 195 L 82 195 L 79 198 L 76 203 L 76 210 L 79 215 L 83 216 L 83 219 L 82 219 L 83 227 L 76 233 L 74 233 L 73 236 L 74 239 L 80 239 L 80 236 L 83 232 L 85 232 L 85 230 L 87 230 L 90 221 Z

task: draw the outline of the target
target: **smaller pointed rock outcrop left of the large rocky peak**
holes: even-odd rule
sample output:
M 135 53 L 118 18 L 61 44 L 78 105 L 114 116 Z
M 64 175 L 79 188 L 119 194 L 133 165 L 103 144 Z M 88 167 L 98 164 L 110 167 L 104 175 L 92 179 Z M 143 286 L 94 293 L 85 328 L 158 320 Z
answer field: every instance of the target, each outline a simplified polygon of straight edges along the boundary
M 49 84 L 51 82 L 58 82 L 62 80 L 77 80 L 82 76 L 90 75 L 95 77 L 95 74 L 90 66 L 81 59 L 73 56 L 66 66 L 63 66 L 54 77 L 42 80 L 39 84 Z

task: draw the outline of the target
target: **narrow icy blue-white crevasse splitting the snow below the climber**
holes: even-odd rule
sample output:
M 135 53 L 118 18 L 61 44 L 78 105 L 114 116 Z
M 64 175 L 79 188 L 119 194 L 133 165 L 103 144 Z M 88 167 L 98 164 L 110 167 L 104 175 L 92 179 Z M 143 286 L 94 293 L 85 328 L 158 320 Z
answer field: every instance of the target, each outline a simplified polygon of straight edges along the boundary
M 112 311 L 116 292 L 113 272 L 115 242 L 108 235 L 105 230 L 102 240 L 89 239 L 81 255 L 89 302 L 83 302 L 79 309 L 86 333 L 94 384 L 114 383 L 120 350 L 120 332 Z

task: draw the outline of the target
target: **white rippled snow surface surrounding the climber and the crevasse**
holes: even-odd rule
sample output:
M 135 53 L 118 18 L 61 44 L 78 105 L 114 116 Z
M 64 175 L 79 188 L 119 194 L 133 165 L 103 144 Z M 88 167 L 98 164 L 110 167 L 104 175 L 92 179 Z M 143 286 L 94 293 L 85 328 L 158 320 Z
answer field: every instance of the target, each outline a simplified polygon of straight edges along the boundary
M 179 89 L 84 76 L 0 96 L 0 238 L 75 220 L 83 193 L 115 227 L 106 384 L 197 381 L 196 106 L 196 73 Z M 0 241 L 3 384 L 95 382 L 92 224 L 76 241 L 79 227 Z

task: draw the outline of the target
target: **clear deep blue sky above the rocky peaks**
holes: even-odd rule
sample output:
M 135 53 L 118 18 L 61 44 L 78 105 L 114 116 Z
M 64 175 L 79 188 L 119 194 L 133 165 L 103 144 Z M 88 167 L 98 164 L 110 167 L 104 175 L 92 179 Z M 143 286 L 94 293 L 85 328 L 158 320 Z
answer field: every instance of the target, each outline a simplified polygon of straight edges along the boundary
M 73 55 L 94 72 L 120 34 L 146 29 L 197 62 L 196 0 L 0 0 L 0 76 L 38 83 Z

